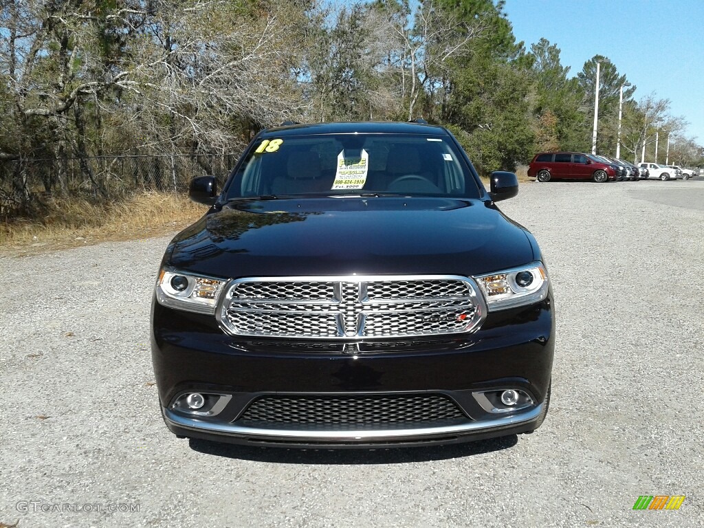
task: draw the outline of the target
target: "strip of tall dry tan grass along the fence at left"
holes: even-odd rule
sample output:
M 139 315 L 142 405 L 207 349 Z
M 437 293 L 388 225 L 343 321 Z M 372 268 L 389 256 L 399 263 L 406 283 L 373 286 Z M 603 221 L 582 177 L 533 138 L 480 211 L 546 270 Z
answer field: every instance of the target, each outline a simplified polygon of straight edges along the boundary
M 176 232 L 206 212 L 186 196 L 148 192 L 111 203 L 51 200 L 42 220 L 0 223 L 0 256 L 44 253 L 103 241 Z

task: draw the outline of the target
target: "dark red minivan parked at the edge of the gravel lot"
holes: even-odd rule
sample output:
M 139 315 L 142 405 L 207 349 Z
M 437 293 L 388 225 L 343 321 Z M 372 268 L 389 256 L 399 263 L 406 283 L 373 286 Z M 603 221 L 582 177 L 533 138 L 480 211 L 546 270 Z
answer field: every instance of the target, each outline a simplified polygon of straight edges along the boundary
M 577 152 L 537 153 L 528 167 L 529 177 L 539 182 L 555 179 L 593 180 L 603 183 L 617 177 L 615 165 Z

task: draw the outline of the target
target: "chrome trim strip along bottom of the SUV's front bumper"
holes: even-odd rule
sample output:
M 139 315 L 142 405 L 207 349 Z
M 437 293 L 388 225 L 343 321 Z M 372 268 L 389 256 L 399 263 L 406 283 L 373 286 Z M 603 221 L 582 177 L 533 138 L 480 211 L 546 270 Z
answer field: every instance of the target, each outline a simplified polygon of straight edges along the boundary
M 432 438 L 433 436 L 446 436 L 449 434 L 463 435 L 481 432 L 490 432 L 492 429 L 503 429 L 512 426 L 522 425 L 527 422 L 532 422 L 539 417 L 543 410 L 543 404 L 532 410 L 522 413 L 517 413 L 511 416 L 501 416 L 492 418 L 491 420 L 479 420 L 475 422 L 467 422 L 460 425 L 449 425 L 446 427 L 424 427 L 420 429 L 361 429 L 361 430 L 306 430 L 306 429 L 256 429 L 253 427 L 241 427 L 234 424 L 225 424 L 218 422 L 209 422 L 208 420 L 199 420 L 197 418 L 184 417 L 177 415 L 169 409 L 163 409 L 164 420 L 183 429 L 191 429 L 193 431 L 210 433 L 223 436 L 239 436 L 249 439 L 259 440 L 288 440 L 288 441 L 330 441 L 334 442 L 363 442 L 375 440 L 400 440 L 400 439 L 417 439 L 422 440 L 425 437 Z

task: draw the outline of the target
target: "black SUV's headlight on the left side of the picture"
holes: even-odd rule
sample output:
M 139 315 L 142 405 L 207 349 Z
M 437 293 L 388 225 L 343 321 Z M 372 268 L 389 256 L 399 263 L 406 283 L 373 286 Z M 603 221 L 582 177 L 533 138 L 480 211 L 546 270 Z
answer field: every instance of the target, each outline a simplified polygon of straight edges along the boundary
M 163 306 L 189 312 L 214 314 L 224 280 L 161 270 L 156 280 L 156 300 Z

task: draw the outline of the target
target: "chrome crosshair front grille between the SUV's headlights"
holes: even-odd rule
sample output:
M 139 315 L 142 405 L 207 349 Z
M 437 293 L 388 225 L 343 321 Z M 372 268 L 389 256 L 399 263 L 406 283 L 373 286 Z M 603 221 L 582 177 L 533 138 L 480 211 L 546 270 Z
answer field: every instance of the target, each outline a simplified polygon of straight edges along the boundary
M 459 276 L 238 279 L 218 314 L 233 335 L 360 339 L 472 332 L 484 298 Z

